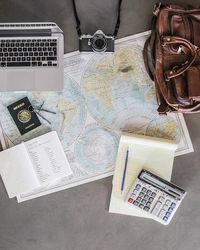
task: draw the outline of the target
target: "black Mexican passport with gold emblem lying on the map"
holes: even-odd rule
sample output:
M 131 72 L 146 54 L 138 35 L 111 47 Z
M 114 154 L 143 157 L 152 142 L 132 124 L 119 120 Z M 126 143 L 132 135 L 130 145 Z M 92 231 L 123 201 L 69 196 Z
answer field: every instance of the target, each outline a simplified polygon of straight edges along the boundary
M 10 104 L 7 109 L 21 135 L 24 135 L 41 125 L 28 97 L 24 97 L 21 100 Z

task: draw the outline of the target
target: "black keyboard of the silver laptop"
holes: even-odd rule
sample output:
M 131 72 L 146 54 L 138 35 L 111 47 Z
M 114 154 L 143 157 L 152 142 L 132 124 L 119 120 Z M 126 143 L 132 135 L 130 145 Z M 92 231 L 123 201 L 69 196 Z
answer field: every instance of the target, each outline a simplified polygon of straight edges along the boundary
M 0 67 L 57 67 L 57 39 L 0 40 Z

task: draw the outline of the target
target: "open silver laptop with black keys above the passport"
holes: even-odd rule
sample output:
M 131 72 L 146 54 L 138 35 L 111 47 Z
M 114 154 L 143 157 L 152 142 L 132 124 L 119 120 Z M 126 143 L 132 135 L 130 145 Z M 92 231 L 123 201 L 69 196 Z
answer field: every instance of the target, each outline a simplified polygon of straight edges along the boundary
M 55 23 L 0 23 L 0 91 L 61 91 L 63 54 Z

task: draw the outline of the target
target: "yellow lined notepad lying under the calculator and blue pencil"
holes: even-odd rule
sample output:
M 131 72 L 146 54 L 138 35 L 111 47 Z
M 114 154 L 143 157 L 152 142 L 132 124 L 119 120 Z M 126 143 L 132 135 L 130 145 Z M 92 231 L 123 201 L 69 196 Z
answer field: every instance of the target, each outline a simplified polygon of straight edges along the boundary
M 127 149 L 129 158 L 122 192 L 121 183 Z M 145 212 L 126 204 L 124 202 L 126 195 L 143 168 L 170 181 L 176 149 L 177 144 L 170 140 L 123 133 L 115 164 L 109 212 L 148 217 Z

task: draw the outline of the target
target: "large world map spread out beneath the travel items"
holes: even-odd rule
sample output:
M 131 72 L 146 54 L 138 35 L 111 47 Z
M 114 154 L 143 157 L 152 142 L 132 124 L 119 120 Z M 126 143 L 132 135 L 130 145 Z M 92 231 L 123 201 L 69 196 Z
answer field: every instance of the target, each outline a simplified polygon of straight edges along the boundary
M 20 195 L 18 202 L 112 175 L 122 131 L 173 139 L 179 142 L 176 155 L 193 150 L 183 116 L 157 113 L 154 83 L 142 58 L 148 35 L 118 40 L 115 53 L 66 54 L 62 92 L 0 93 L 2 145 L 55 130 L 73 171 L 53 185 Z M 42 125 L 21 136 L 7 106 L 25 96 L 40 110 Z

